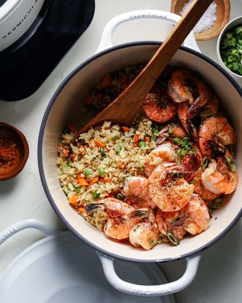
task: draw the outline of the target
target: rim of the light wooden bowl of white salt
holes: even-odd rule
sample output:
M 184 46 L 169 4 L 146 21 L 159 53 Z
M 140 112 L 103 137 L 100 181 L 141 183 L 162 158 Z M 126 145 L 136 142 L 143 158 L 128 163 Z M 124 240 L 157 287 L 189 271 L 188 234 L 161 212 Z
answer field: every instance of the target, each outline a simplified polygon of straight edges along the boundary
M 179 1 L 179 0 L 172 0 L 172 4 L 171 4 L 171 13 L 173 13 L 173 14 L 175 14 L 175 5 L 176 5 L 176 3 L 177 3 L 178 1 Z M 200 34 L 206 33 L 206 31 L 205 31 L 205 32 L 201 32 L 201 33 L 199 33 L 199 34 L 194 34 L 195 39 L 196 39 L 197 41 L 205 41 L 205 40 L 209 40 L 209 39 L 212 39 L 212 38 L 214 38 L 214 37 L 217 37 L 217 36 L 221 33 L 221 31 L 223 30 L 224 26 L 228 23 L 228 21 L 229 21 L 229 16 L 230 16 L 230 2 L 229 2 L 229 0 L 223 0 L 223 2 L 224 2 L 224 20 L 223 20 L 221 26 L 217 29 L 216 32 L 214 32 L 213 34 L 208 35 L 208 36 L 202 36 L 202 37 L 199 37 L 199 36 L 198 36 L 198 35 L 200 35 Z M 175 3 L 175 4 L 174 4 L 174 3 Z

